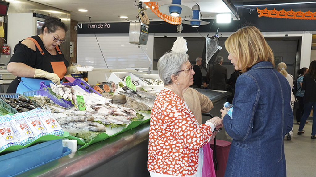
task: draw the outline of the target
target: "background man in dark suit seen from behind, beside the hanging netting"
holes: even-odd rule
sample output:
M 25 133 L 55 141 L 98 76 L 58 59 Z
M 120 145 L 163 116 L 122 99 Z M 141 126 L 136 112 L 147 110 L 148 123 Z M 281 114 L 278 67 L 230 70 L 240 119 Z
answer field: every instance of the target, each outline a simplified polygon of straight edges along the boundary
M 207 89 L 226 90 L 227 68 L 222 66 L 224 58 L 218 56 L 214 61 L 215 65 L 210 66 L 210 83 Z

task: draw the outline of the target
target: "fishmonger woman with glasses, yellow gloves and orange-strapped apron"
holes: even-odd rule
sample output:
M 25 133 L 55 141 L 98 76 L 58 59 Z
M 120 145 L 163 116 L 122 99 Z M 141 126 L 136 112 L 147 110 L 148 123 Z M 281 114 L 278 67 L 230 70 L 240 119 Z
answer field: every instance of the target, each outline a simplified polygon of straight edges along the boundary
M 17 76 L 7 93 L 37 90 L 40 82 L 60 84 L 64 75 L 76 73 L 76 67 L 69 63 L 59 49 L 66 42 L 66 25 L 55 17 L 47 17 L 41 29 L 42 34 L 20 41 L 8 63 L 8 71 Z

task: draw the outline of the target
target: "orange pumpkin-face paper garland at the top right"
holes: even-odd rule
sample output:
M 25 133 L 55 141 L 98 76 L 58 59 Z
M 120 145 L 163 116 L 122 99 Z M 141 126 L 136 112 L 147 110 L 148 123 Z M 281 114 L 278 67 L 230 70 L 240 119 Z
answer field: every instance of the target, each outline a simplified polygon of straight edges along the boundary
M 282 19 L 299 19 L 299 20 L 316 20 L 316 12 L 302 12 L 297 11 L 294 12 L 292 9 L 290 11 L 285 11 L 284 9 L 277 11 L 276 9 L 268 10 L 265 9 L 258 9 L 258 17 L 272 17 L 272 18 L 282 18 Z

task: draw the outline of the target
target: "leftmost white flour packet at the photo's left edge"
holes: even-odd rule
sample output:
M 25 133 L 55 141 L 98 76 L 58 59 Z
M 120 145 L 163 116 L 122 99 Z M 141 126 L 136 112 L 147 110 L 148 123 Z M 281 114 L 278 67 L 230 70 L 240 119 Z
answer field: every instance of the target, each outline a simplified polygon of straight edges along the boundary
M 5 117 L 0 117 L 0 150 L 13 145 L 20 143 L 13 133 L 10 122 Z

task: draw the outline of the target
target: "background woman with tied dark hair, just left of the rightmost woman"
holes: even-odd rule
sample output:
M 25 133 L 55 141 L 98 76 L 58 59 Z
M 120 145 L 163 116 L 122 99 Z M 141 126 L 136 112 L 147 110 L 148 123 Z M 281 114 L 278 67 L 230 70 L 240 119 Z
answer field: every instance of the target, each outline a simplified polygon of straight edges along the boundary
M 300 103 L 300 107 L 296 109 L 296 124 L 300 125 L 301 123 L 301 118 L 303 115 L 303 110 L 304 110 L 304 93 L 305 90 L 302 90 L 302 85 L 303 85 L 303 78 L 304 75 L 307 73 L 308 68 L 301 68 L 300 70 L 297 71 L 297 74 L 299 74 L 299 77 L 296 79 L 296 85 L 297 85 L 297 91 L 296 91 L 296 99 Z M 308 123 L 307 121 L 305 123 Z

